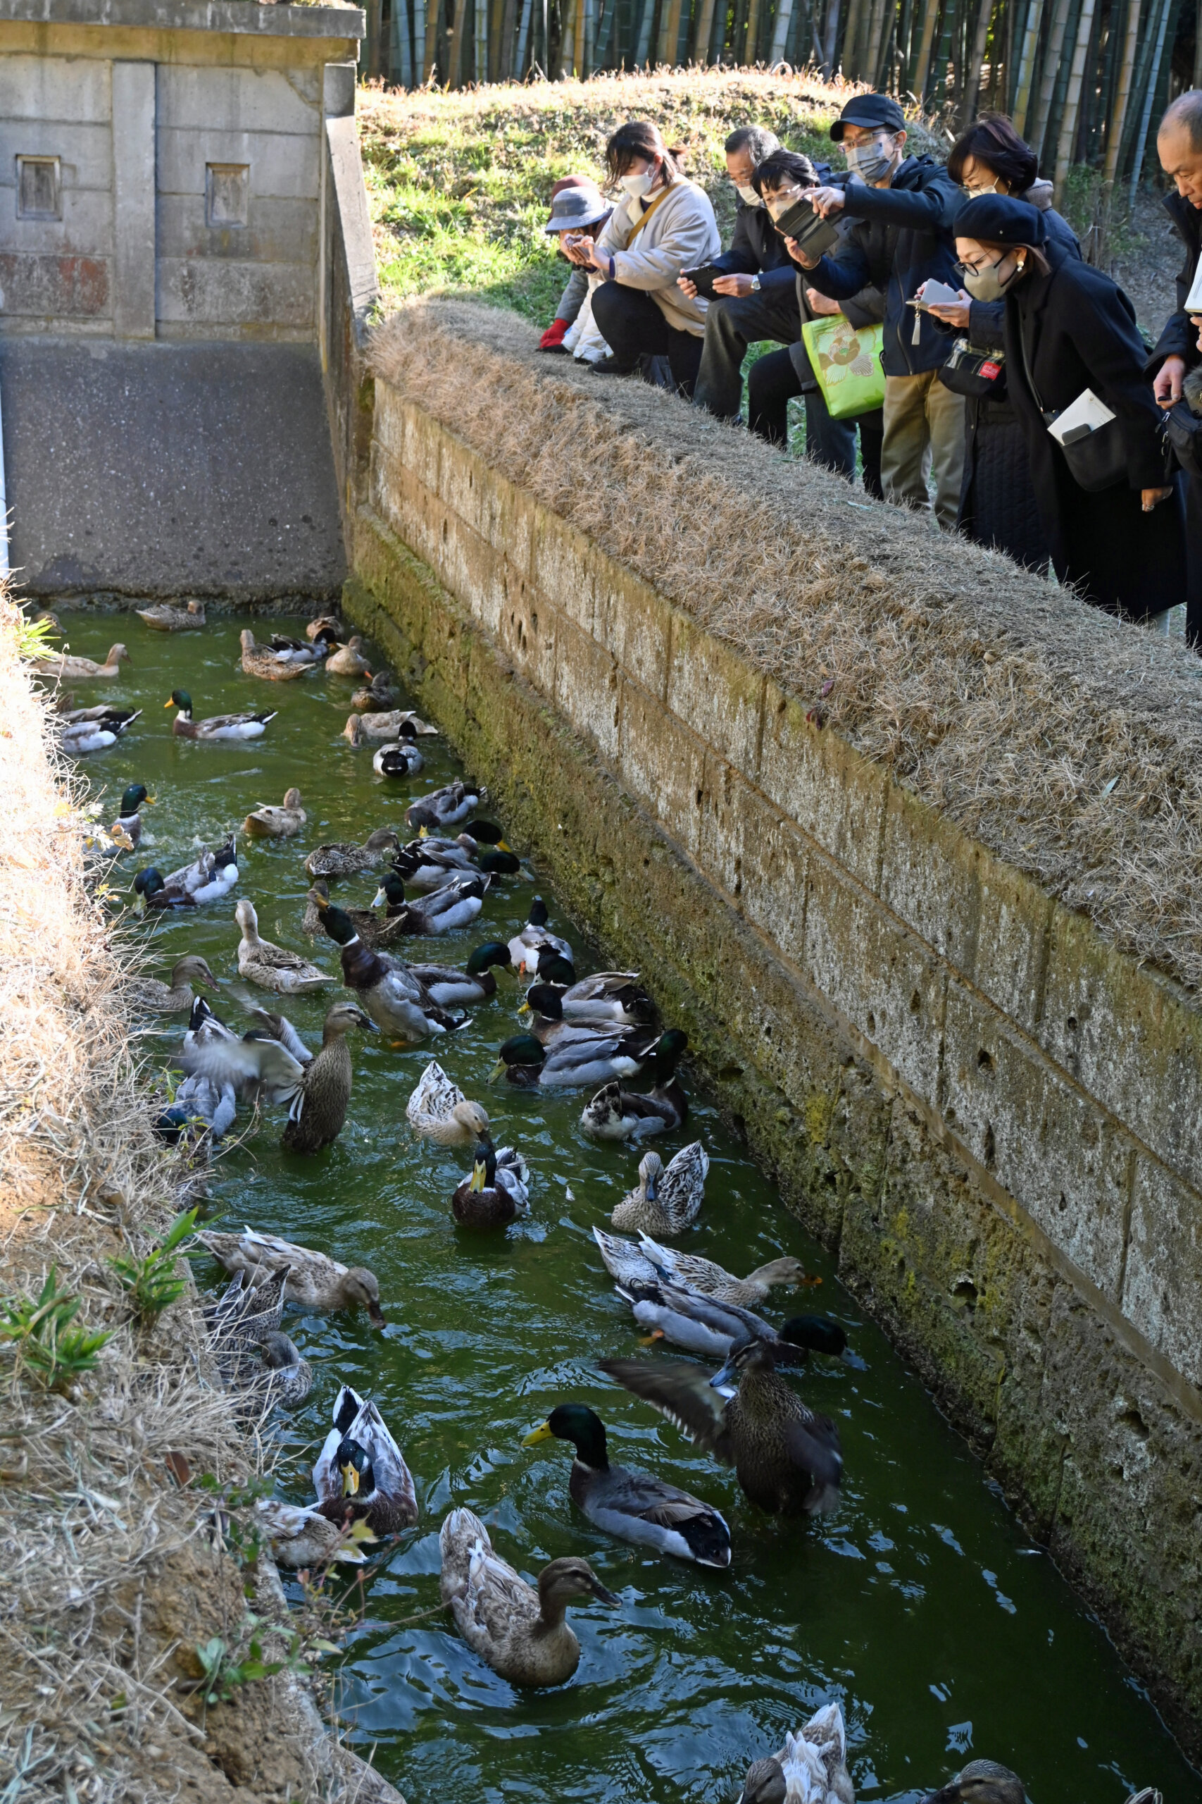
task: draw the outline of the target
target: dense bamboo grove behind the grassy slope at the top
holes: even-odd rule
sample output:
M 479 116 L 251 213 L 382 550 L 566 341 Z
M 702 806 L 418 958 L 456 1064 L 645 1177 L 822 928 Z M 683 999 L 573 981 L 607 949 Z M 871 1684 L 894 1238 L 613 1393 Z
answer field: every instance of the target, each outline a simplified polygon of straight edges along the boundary
M 1134 195 L 1155 124 L 1202 85 L 1202 0 L 368 0 L 368 74 L 465 87 L 656 63 L 789 63 L 955 128 L 1000 108 L 1063 191 Z

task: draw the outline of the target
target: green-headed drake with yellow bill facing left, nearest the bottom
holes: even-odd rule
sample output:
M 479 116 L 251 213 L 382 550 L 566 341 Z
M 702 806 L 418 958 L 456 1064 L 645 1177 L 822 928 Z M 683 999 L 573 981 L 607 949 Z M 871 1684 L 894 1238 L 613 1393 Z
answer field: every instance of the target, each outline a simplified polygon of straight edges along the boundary
M 571 1441 L 577 1450 L 568 1490 L 595 1528 L 697 1566 L 730 1566 L 730 1530 L 717 1510 L 651 1472 L 611 1467 L 606 1425 L 584 1404 L 559 1404 L 523 1447 L 551 1436 Z

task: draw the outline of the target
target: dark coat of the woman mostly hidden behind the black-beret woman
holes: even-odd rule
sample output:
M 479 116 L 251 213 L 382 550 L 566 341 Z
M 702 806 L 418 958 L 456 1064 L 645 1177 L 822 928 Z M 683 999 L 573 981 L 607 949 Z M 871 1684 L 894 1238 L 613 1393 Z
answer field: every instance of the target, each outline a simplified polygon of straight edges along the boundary
M 1076 233 L 1049 204 L 1051 191 L 1051 182 L 1038 182 L 1020 198 L 1040 209 L 1052 244 L 1079 258 Z M 1004 321 L 1006 301 L 973 301 L 966 334 L 973 350 L 1002 350 Z M 964 485 L 957 525 L 970 539 L 1006 552 L 1027 570 L 1047 566 L 1049 545 L 1034 500 L 1027 440 L 1004 375 L 997 395 L 970 395 L 964 402 Z

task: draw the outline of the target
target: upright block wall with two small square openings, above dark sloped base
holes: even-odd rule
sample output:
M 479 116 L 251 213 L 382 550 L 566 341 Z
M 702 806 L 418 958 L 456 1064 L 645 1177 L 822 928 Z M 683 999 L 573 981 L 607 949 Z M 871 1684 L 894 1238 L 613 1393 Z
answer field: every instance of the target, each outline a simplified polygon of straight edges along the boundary
M 312 341 L 326 69 L 360 32 L 353 7 L 0 0 L 0 330 Z M 22 216 L 22 157 L 56 159 L 59 216 Z

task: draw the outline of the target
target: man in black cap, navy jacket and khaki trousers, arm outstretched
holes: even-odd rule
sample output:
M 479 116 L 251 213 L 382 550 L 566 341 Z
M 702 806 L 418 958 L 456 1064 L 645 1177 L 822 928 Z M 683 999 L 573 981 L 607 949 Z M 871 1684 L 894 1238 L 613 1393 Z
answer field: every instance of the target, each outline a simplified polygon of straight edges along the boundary
M 935 476 L 935 518 L 952 530 L 964 473 L 964 399 L 939 381 L 950 339 L 906 305 L 932 278 L 959 289 L 952 220 L 962 193 L 930 157 L 906 157 L 905 114 L 888 94 L 856 94 L 831 126 L 843 146 L 845 188 L 815 188 L 807 200 L 824 218 L 852 222 L 838 258 L 809 263 L 811 285 L 842 301 L 874 285 L 885 292 L 885 444 L 881 483 L 890 502 L 928 509 L 926 469 Z

